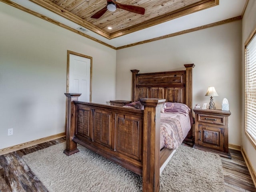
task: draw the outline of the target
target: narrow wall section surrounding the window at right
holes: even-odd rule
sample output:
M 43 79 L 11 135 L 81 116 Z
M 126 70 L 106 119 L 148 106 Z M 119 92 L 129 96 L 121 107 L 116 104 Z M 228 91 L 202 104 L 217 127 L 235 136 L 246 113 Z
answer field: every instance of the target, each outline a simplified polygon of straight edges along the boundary
M 242 90 L 244 90 L 244 43 L 246 42 L 247 38 L 249 37 L 250 33 L 256 28 L 256 1 L 250 0 L 248 3 L 248 6 L 246 8 L 246 11 L 244 13 L 244 17 L 242 20 L 242 61 L 243 65 L 241 68 L 242 72 Z M 242 92 L 243 96 L 241 98 L 242 103 L 242 112 L 241 116 L 244 117 L 244 92 Z M 241 122 L 242 126 L 242 146 L 248 155 L 250 162 L 252 163 L 252 166 L 254 170 L 256 170 L 256 150 L 248 140 L 247 136 L 245 135 L 245 128 L 244 128 L 244 118 Z

